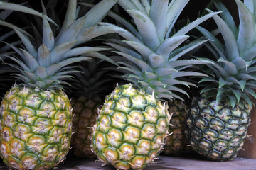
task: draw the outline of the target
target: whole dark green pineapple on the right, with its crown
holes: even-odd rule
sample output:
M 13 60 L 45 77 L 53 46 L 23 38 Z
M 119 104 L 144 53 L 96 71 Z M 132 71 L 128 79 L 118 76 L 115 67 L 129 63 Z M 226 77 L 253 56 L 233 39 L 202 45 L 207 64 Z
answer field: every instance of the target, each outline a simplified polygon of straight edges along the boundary
M 198 30 L 210 41 L 206 47 L 215 64 L 206 69 L 210 75 L 201 80 L 201 96 L 193 99 L 185 134 L 193 149 L 211 160 L 233 159 L 242 148 L 250 125 L 250 110 L 255 94 L 255 21 L 256 2 L 235 0 L 239 11 L 239 26 L 228 9 L 216 0 L 223 11 L 213 16 L 218 29 L 211 33 Z M 221 33 L 224 44 L 218 40 Z M 210 57 L 209 57 L 210 58 Z

